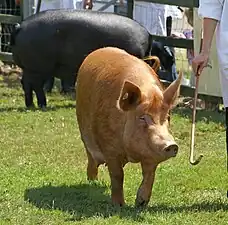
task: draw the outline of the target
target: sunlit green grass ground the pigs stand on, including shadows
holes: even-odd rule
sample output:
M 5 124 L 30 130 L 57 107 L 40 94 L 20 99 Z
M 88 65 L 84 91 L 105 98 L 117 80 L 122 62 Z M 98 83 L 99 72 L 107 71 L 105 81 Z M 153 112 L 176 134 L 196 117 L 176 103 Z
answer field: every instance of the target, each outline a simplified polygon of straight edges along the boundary
M 110 202 L 105 166 L 99 181 L 86 180 L 87 158 L 78 132 L 75 101 L 57 91 L 48 109 L 25 110 L 17 79 L 0 76 L 0 224 L 228 224 L 224 115 L 199 111 L 195 152 L 188 162 L 189 110 L 175 110 L 176 158 L 162 163 L 148 207 L 134 208 L 141 182 L 138 164 L 125 167 L 123 208 Z

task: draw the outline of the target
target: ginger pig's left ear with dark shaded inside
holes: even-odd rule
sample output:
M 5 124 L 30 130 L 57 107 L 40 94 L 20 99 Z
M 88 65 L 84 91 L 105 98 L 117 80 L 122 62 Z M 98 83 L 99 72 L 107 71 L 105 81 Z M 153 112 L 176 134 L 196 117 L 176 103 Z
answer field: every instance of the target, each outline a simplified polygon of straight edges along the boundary
M 130 81 L 125 81 L 118 99 L 118 106 L 123 111 L 128 111 L 137 107 L 141 102 L 140 88 Z

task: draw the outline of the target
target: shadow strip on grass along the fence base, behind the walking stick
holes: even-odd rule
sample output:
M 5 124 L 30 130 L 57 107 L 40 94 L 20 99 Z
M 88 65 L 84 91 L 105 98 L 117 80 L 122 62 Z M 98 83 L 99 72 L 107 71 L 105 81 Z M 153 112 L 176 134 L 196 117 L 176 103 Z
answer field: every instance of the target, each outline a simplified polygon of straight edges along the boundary
M 172 114 L 178 114 L 182 117 L 187 117 L 192 120 L 192 109 L 189 108 L 175 108 Z M 225 123 L 225 113 L 211 110 L 198 110 L 196 112 L 196 122 L 203 121 L 206 123 Z

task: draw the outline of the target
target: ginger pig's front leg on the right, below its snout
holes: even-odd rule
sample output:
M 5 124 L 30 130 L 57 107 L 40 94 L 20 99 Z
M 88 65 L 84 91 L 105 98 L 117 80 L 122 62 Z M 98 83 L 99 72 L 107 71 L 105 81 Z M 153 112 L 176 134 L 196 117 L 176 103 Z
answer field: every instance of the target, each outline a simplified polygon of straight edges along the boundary
M 151 162 L 142 162 L 141 167 L 143 180 L 137 192 L 135 205 L 147 206 L 151 197 L 157 165 L 152 165 Z

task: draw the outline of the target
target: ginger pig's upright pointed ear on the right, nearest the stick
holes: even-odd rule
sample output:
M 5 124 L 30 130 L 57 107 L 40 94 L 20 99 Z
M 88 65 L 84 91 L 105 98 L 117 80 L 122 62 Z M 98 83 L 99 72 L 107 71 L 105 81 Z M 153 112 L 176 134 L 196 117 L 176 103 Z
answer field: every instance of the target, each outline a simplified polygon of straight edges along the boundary
M 182 76 L 183 72 L 180 71 L 178 78 L 175 81 L 173 81 L 163 92 L 164 102 L 170 108 L 174 106 L 175 101 L 179 96 Z

